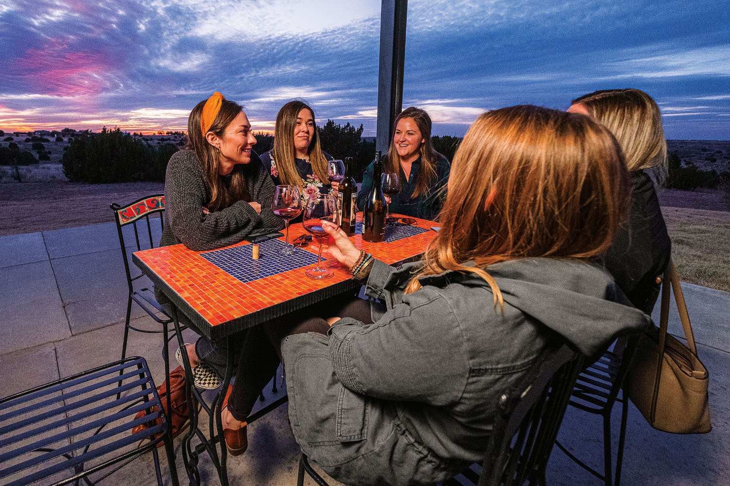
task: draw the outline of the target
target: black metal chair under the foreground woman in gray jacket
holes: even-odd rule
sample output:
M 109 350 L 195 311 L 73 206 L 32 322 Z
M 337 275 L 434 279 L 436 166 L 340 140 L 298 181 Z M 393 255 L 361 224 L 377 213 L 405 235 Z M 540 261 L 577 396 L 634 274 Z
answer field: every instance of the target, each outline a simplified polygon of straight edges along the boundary
M 566 345 L 543 351 L 517 385 L 499 396 L 499 413 L 482 465 L 472 464 L 442 485 L 510 486 L 526 481 L 545 485 L 550 452 L 582 364 L 583 356 Z M 299 486 L 305 471 L 318 485 L 327 486 L 302 454 Z

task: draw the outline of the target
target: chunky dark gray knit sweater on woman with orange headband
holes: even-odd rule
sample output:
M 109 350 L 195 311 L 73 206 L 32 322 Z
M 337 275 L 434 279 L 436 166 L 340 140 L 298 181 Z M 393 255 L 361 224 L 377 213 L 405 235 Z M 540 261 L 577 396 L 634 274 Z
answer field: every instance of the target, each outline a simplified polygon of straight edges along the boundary
M 165 226 L 160 246 L 183 243 L 193 251 L 213 250 L 232 245 L 247 235 L 266 230 L 280 230 L 283 219 L 272 213 L 274 183 L 264 172 L 261 159 L 251 152 L 251 162 L 236 165 L 234 171 L 245 171 L 248 192 L 261 204 L 261 214 L 246 201 L 237 201 L 228 208 L 203 214 L 210 200 L 210 188 L 195 152 L 181 150 L 167 164 L 165 175 Z M 230 177 L 223 178 L 224 183 Z

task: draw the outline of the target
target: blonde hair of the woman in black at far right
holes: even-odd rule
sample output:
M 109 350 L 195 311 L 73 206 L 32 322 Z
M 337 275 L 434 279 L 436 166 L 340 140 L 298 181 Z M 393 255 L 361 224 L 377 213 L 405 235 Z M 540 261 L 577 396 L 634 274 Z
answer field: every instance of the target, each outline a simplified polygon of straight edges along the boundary
M 611 130 L 626 157 L 626 168 L 639 171 L 659 167 L 666 173 L 666 139 L 661 112 L 650 95 L 642 90 L 600 90 L 572 102 L 585 106 L 588 113 Z

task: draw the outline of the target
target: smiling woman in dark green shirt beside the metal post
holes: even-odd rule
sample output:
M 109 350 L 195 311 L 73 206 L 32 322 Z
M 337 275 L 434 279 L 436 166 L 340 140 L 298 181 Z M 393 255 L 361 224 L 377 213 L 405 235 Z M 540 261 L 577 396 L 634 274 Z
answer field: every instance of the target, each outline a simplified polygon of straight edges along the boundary
M 399 191 L 388 198 L 388 211 L 423 219 L 436 219 L 444 202 L 444 189 L 450 165 L 431 143 L 431 117 L 411 106 L 393 123 L 393 140 L 383 157 L 383 173 L 398 175 Z M 373 164 L 363 174 L 358 192 L 358 206 L 363 208 L 372 187 Z M 375 181 L 380 184 L 380 181 Z

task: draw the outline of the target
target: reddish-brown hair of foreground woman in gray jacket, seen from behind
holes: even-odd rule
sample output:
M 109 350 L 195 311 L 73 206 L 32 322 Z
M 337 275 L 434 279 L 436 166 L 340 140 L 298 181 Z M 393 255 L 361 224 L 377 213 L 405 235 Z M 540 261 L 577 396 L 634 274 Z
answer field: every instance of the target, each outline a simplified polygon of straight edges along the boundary
M 407 292 L 420 289 L 420 275 L 472 272 L 503 305 L 489 265 L 602 255 L 629 207 L 621 148 L 582 114 L 530 105 L 488 111 L 466 132 L 452 168 L 459 176 L 449 179 L 441 230 Z

